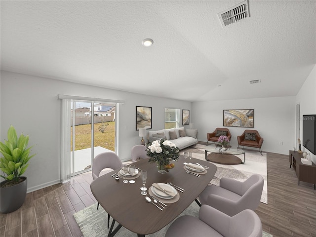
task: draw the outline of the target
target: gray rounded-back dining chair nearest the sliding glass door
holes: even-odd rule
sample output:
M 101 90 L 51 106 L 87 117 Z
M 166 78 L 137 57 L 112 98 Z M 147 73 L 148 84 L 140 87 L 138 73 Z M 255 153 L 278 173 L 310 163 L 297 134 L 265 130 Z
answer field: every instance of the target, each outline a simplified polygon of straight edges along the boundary
M 114 152 L 104 152 L 97 155 L 92 162 L 92 178 L 97 179 L 101 171 L 105 168 L 118 169 L 123 167 L 122 161 L 118 158 L 118 155 Z M 108 172 L 110 172 L 109 170 Z M 99 209 L 99 202 L 97 209 Z M 108 229 L 109 229 L 110 215 L 108 214 Z

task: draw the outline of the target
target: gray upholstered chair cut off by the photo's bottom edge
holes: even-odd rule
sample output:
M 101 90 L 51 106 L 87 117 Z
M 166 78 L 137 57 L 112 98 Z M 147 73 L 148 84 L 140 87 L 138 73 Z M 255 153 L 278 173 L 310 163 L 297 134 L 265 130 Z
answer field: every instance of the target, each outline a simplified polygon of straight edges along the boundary
M 181 216 L 168 228 L 165 237 L 262 237 L 262 224 L 252 210 L 231 217 L 208 205 L 199 216 Z

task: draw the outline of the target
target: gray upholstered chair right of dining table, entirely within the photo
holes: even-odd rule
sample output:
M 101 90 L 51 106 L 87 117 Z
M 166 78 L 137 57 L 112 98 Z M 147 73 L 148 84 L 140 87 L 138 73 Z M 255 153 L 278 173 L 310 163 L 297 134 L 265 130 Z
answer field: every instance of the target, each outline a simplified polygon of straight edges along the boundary
M 198 198 L 201 204 L 234 216 L 242 210 L 254 211 L 258 207 L 263 184 L 263 177 L 259 174 L 251 175 L 244 182 L 223 177 L 219 186 L 208 185 Z

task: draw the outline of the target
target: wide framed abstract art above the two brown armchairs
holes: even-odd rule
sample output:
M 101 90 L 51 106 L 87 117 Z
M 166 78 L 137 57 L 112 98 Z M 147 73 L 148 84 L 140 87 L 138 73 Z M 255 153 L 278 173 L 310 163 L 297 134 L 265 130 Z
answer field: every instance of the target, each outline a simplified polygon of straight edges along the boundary
M 223 125 L 227 127 L 253 127 L 253 109 L 223 110 Z

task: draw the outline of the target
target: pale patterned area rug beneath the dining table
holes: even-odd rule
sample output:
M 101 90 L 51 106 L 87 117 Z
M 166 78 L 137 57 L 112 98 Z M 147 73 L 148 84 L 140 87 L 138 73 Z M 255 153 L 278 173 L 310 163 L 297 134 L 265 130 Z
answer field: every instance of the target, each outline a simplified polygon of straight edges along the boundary
M 191 215 L 198 217 L 198 211 L 199 206 L 196 202 L 192 202 L 192 204 L 187 209 L 185 209 L 179 216 Z M 74 217 L 78 223 L 78 226 L 82 232 L 83 237 L 104 237 L 107 236 L 109 233 L 109 229 L 107 229 L 108 213 L 102 208 L 102 206 L 99 206 L 99 209 L 97 210 L 97 203 L 75 213 Z M 110 222 L 112 222 L 112 217 L 110 219 Z M 156 233 L 146 235 L 146 237 L 164 237 L 171 223 Z M 262 232 L 262 234 L 263 237 L 272 237 L 272 235 L 264 231 Z M 122 227 L 115 235 L 115 237 L 135 236 L 137 236 L 137 234 L 125 229 L 124 227 Z

